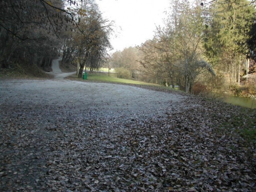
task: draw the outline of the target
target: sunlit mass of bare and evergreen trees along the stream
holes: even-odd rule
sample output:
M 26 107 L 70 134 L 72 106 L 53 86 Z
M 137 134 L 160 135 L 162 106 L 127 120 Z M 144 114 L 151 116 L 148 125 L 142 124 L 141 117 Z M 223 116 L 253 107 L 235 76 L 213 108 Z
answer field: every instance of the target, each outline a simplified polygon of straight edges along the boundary
M 170 2 L 165 26 L 140 47 L 144 73 L 188 93 L 239 84 L 255 55 L 255 1 Z

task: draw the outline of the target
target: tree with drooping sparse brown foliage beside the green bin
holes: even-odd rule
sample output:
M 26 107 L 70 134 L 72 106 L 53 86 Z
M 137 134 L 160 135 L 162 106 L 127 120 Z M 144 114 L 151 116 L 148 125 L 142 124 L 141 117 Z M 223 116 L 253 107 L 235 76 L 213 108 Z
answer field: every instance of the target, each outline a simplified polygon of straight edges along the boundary
M 79 28 L 66 36 L 63 46 L 62 62 L 77 62 L 79 77 L 84 68 L 92 72 L 97 70 L 111 49 L 109 35 L 112 32 L 112 22 L 104 19 L 95 0 L 83 0 L 76 12 Z

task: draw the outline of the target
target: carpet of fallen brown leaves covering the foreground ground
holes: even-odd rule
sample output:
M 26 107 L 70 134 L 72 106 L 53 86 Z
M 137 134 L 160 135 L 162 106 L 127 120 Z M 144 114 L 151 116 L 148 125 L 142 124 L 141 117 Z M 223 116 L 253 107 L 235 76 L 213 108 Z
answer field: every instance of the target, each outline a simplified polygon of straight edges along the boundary
M 2 105 L 0 190 L 254 191 L 255 148 L 200 104 L 147 118 Z

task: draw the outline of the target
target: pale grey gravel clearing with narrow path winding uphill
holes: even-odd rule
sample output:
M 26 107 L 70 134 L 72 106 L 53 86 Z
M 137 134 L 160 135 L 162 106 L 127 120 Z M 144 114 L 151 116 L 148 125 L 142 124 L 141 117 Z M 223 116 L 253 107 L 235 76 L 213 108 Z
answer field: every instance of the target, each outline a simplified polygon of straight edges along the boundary
M 46 105 L 67 108 L 81 116 L 152 116 L 184 108 L 185 96 L 133 86 L 64 80 L 58 58 L 53 60 L 54 80 L 2 80 L 2 104 Z

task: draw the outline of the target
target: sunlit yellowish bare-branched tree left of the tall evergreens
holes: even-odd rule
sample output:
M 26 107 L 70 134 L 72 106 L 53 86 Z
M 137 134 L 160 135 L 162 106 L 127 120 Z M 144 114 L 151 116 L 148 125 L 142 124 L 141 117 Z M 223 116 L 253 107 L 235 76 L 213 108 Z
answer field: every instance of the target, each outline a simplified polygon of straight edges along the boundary
M 193 7 L 188 0 L 173 0 L 172 14 L 165 28 L 157 28 L 155 38 L 141 47 L 145 72 L 192 93 L 199 74 L 214 74 L 205 61 L 203 23 L 200 5 Z

